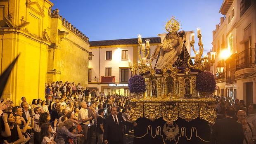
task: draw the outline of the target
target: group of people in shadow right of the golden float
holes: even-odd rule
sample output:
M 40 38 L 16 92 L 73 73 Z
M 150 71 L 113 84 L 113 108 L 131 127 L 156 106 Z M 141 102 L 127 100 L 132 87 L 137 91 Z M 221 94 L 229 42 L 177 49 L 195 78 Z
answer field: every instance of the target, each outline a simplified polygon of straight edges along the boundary
M 216 123 L 211 144 L 256 144 L 256 104 L 215 96 Z

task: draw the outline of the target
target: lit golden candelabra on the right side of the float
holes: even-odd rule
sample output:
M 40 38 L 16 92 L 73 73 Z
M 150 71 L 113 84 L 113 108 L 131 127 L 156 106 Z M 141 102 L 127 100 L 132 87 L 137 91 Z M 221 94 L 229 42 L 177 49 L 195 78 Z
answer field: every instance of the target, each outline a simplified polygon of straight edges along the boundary
M 207 66 L 213 66 L 214 62 L 215 62 L 215 54 L 216 52 L 210 52 L 211 56 L 209 57 L 209 55 L 205 55 L 204 57 L 202 57 L 203 52 L 204 52 L 204 45 L 202 42 L 202 35 L 201 35 L 201 31 L 199 28 L 197 28 L 197 38 L 198 40 L 198 46 L 199 46 L 199 50 L 196 51 L 194 49 L 194 34 L 192 34 L 192 40 L 190 42 L 190 47 L 192 47 L 192 50 L 194 51 L 195 57 L 190 57 L 187 61 L 188 66 L 190 66 L 190 68 L 195 68 L 198 70 L 205 70 L 205 68 Z M 194 59 L 194 65 L 190 65 L 190 61 L 191 59 Z

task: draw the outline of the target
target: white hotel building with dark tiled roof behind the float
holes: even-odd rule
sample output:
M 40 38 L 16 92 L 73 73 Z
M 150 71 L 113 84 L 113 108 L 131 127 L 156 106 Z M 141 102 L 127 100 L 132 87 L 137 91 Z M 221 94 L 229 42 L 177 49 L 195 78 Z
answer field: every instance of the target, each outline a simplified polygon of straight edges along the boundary
M 150 39 L 150 49 L 154 52 L 161 43 L 160 37 L 142 38 Z M 138 61 L 138 40 L 101 40 L 90 42 L 89 58 L 89 85 L 90 88 L 99 88 L 107 94 L 129 95 L 128 80 L 131 76 L 128 59 L 132 63 Z M 149 57 L 148 57 L 149 58 Z

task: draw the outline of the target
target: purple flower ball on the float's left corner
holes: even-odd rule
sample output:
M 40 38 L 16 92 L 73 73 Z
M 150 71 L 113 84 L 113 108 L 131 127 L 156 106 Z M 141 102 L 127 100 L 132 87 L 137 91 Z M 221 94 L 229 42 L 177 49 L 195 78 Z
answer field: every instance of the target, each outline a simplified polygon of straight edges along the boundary
M 145 78 L 141 75 L 131 76 L 128 87 L 133 94 L 142 94 L 146 92 Z

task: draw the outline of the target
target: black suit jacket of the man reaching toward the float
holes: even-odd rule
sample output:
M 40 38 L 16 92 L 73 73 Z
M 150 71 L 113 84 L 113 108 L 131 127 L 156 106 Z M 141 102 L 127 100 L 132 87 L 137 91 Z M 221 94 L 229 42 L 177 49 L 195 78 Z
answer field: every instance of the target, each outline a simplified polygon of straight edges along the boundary
M 133 125 L 132 123 L 123 120 L 122 116 L 116 115 L 119 124 L 116 125 L 112 115 L 109 115 L 104 123 L 104 140 L 108 140 L 108 143 L 118 142 L 123 144 L 123 125 Z

